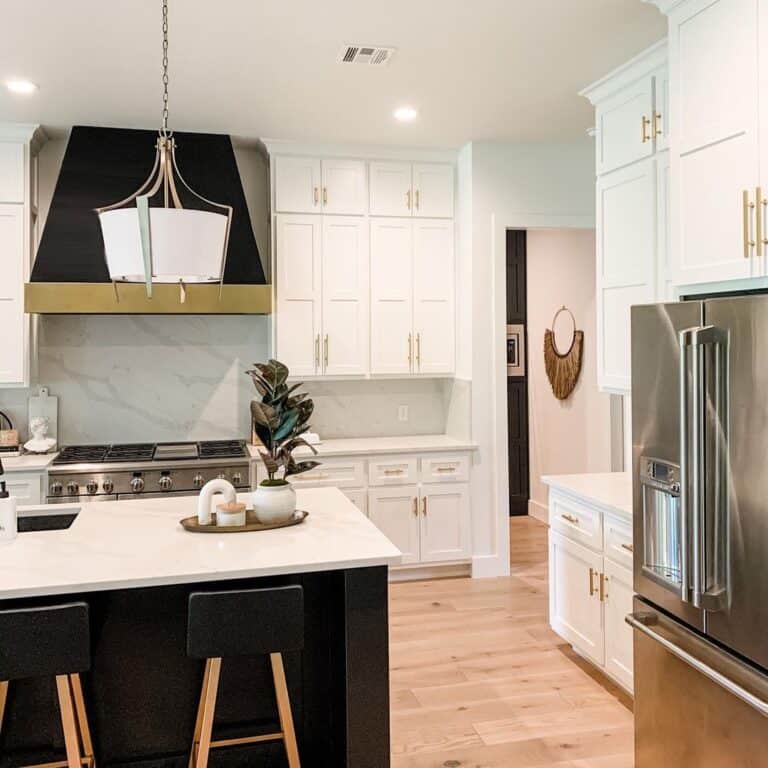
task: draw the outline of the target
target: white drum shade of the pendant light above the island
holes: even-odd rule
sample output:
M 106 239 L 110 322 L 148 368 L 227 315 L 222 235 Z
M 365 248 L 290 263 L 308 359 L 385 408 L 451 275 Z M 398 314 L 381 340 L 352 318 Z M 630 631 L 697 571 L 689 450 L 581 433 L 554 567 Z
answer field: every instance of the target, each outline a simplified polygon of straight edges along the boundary
M 99 214 L 112 280 L 143 283 L 139 214 L 121 208 Z M 224 269 L 227 217 L 188 208 L 150 208 L 152 282 L 217 283 Z

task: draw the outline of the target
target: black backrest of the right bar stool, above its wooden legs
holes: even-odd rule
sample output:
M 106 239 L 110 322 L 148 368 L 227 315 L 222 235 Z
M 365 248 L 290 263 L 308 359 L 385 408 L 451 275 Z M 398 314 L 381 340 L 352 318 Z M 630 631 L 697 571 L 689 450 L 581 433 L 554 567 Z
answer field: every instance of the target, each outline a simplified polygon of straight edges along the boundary
M 304 645 L 304 591 L 272 589 L 193 592 L 187 656 L 193 659 L 298 651 Z

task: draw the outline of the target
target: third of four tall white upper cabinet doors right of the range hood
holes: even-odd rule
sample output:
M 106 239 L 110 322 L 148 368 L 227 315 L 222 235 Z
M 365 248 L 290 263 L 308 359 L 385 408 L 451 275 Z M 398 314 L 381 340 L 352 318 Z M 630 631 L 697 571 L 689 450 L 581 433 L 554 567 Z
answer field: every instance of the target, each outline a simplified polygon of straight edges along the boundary
M 371 373 L 411 372 L 413 226 L 371 219 Z

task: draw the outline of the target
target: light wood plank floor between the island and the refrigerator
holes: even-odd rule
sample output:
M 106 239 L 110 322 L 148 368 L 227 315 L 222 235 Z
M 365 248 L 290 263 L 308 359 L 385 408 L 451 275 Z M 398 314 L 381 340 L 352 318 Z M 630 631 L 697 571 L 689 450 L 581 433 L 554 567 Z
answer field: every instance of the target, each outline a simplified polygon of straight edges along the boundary
M 547 527 L 512 576 L 393 584 L 392 768 L 632 768 L 631 700 L 547 624 Z

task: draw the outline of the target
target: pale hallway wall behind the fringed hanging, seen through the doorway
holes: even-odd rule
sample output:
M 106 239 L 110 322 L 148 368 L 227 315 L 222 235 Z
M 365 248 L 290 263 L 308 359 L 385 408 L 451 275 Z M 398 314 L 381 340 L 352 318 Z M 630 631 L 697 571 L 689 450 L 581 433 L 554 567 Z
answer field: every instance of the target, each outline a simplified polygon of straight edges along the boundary
M 611 398 L 597 389 L 595 231 L 528 230 L 528 414 L 530 513 L 546 519 L 542 475 L 609 472 Z M 558 400 L 544 369 L 544 332 L 565 304 L 584 332 L 581 374 L 567 400 Z M 571 321 L 558 318 L 558 347 L 567 349 Z

